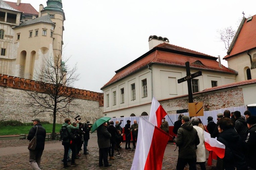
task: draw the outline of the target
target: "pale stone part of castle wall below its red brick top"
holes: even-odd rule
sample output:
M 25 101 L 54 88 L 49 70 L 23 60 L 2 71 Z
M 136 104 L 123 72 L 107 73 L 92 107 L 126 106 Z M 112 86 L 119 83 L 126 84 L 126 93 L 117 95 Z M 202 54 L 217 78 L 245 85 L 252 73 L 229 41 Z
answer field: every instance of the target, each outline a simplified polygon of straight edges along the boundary
M 53 117 L 49 113 L 34 116 L 33 108 L 27 106 L 29 100 L 31 99 L 25 90 L 0 86 L 0 121 L 17 120 L 25 123 L 38 117 L 41 121 L 53 122 Z M 72 103 L 76 106 L 72 104 L 68 106 L 71 121 L 74 120 L 74 117 L 80 115 L 81 122 L 90 121 L 93 123 L 96 120 L 95 118 L 98 119 L 103 116 L 103 107 L 99 106 L 98 101 L 75 99 Z M 67 117 L 68 114 L 58 115 L 56 123 L 63 123 Z

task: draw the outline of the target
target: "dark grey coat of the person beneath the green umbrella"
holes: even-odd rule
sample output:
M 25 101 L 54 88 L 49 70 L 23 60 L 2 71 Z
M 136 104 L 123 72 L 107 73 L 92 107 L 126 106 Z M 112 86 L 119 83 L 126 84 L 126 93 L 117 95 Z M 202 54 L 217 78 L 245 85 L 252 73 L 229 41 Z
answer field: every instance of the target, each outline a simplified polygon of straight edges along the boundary
M 97 129 L 98 146 L 99 148 L 109 148 L 111 134 L 108 132 L 106 126 L 99 126 Z

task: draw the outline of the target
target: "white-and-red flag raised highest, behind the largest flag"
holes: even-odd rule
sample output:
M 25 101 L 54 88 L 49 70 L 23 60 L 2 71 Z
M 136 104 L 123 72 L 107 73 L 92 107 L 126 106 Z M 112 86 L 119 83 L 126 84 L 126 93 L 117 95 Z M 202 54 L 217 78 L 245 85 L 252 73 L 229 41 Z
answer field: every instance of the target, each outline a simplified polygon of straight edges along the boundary
M 153 97 L 148 121 L 160 128 L 162 119 L 167 115 L 164 108 Z

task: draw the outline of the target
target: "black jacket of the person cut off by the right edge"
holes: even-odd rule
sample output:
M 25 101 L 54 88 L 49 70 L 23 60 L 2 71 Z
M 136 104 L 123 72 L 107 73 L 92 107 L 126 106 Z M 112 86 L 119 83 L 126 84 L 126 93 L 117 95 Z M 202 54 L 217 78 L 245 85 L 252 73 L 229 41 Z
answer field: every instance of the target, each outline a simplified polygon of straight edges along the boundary
M 246 162 L 249 167 L 256 169 L 256 124 L 247 131 L 245 140 Z

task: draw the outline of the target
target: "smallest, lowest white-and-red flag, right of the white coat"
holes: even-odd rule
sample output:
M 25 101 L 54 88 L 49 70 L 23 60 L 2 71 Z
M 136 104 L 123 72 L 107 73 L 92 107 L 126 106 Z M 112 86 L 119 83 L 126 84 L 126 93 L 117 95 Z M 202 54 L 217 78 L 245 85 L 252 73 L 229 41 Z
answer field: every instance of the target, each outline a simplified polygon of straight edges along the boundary
M 216 140 L 216 138 L 211 138 L 208 132 L 204 131 L 204 141 L 205 148 L 210 151 L 207 164 L 212 165 L 212 158 L 218 156 L 219 158 L 224 158 L 225 155 L 225 145 Z

